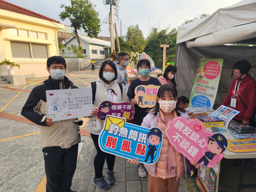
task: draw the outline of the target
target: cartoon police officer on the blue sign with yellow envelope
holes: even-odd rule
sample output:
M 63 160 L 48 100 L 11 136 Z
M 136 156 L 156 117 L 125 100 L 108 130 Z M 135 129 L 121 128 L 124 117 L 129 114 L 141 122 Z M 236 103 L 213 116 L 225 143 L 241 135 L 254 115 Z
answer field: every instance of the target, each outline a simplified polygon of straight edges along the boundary
M 154 153 L 156 152 L 156 146 L 158 145 L 162 139 L 162 131 L 157 127 L 152 127 L 150 131 L 147 134 L 148 138 L 146 138 L 147 145 L 148 145 L 148 152 L 146 155 L 146 159 L 144 161 L 147 161 L 149 155 L 151 157 L 151 161 L 153 162 Z M 150 144 L 149 144 L 150 143 Z

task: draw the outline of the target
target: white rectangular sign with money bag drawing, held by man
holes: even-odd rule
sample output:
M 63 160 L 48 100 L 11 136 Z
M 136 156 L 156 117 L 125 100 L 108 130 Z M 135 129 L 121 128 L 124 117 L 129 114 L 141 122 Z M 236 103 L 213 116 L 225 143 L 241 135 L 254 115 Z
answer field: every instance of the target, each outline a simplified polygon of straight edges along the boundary
M 89 116 L 92 110 L 91 88 L 46 90 L 48 116 L 52 121 Z

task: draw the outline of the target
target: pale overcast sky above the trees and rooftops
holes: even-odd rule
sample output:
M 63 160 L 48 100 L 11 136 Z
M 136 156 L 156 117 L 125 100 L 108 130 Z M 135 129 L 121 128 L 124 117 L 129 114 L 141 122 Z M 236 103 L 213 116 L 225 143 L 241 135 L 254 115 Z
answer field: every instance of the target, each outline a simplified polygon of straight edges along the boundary
M 69 0 L 6 0 L 10 3 L 60 20 L 58 14 L 63 10 L 59 5 L 70 5 Z M 98 36 L 109 36 L 108 22 L 109 4 L 105 0 L 90 0 L 99 13 L 101 31 Z M 127 32 L 129 25 L 138 24 L 144 37 L 152 27 L 165 29 L 177 28 L 184 20 L 192 19 L 201 13 L 211 14 L 218 8 L 233 5 L 241 0 L 117 0 L 118 11 L 114 19 L 120 35 L 120 20 L 122 21 L 122 35 Z M 69 25 L 68 20 L 60 20 L 62 24 Z M 85 33 L 80 33 L 85 34 Z

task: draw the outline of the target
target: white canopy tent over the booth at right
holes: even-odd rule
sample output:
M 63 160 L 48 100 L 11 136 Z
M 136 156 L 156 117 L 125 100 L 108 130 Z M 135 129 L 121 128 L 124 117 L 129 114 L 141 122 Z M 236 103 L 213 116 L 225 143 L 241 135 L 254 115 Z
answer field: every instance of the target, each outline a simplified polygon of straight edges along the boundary
M 231 77 L 234 62 L 248 60 L 252 65 L 249 73 L 256 78 L 256 0 L 242 0 L 179 26 L 176 43 L 178 95 L 189 98 L 201 57 L 224 58 L 215 99 L 215 103 L 221 104 L 234 79 Z

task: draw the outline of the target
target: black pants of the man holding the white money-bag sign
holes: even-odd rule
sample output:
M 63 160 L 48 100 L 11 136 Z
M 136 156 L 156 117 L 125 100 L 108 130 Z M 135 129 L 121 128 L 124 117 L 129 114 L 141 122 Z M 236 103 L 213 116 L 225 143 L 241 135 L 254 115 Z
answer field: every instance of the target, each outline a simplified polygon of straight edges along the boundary
M 76 168 L 78 143 L 70 148 L 42 148 L 46 174 L 46 192 L 69 192 Z

